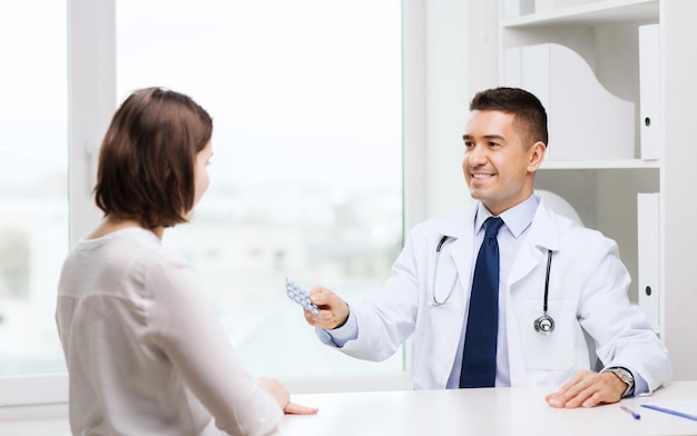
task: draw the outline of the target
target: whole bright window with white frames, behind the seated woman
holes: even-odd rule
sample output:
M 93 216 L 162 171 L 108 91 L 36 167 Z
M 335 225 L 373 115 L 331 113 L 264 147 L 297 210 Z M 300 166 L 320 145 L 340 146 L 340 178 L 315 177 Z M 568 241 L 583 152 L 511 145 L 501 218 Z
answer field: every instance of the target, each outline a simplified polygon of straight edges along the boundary
M 214 117 L 213 186 L 166 244 L 207 280 L 245 366 L 315 390 L 408 378 L 401 355 L 322 346 L 283 283 L 357 301 L 389 275 L 404 219 L 424 214 L 423 50 L 421 1 L 0 6 L 0 406 L 67 399 L 60 267 L 100 218 L 95 151 L 117 103 L 153 85 Z M 375 386 L 394 385 L 357 388 Z

